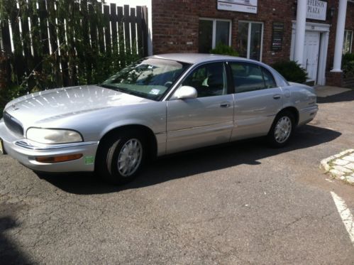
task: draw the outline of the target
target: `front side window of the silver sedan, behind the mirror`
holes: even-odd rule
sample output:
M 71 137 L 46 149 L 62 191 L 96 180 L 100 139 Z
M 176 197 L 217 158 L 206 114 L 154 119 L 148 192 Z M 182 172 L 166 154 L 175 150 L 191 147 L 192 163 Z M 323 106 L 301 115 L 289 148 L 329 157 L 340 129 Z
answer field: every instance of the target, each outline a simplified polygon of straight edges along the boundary
M 194 87 L 198 97 L 227 94 L 226 71 L 223 63 L 209 63 L 193 70 L 182 85 Z

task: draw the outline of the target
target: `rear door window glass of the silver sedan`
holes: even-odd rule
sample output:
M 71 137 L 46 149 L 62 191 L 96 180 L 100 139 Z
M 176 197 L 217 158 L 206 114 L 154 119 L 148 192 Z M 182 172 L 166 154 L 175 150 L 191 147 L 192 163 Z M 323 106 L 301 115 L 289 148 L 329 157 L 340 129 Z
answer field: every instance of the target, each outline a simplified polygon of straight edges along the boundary
M 231 63 L 235 92 L 249 92 L 265 89 L 262 70 L 253 63 Z

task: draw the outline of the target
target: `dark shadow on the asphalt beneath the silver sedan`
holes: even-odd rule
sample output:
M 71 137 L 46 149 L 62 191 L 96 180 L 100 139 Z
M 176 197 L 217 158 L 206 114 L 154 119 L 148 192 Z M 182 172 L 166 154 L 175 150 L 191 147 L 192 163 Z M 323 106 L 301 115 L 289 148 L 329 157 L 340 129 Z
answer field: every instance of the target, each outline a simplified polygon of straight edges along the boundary
M 106 184 L 92 173 L 65 175 L 46 175 L 42 173 L 40 178 L 68 193 L 81 195 L 114 193 L 120 190 L 142 188 L 176 178 L 184 178 L 240 164 L 257 165 L 260 164 L 259 159 L 317 146 L 333 141 L 338 136 L 341 136 L 338 131 L 306 125 L 297 129 L 292 142 L 285 148 L 269 148 L 264 143 L 264 139 L 251 139 L 223 146 L 202 148 L 187 153 L 178 153 L 153 161 L 144 168 L 138 178 L 122 186 Z

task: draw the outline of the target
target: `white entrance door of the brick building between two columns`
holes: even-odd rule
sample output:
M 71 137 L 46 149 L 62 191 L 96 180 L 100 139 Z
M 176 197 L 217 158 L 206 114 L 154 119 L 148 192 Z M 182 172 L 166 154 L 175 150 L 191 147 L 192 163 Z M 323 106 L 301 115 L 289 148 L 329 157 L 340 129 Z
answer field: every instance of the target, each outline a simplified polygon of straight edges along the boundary
M 304 45 L 303 64 L 310 80 L 317 82 L 317 70 L 319 67 L 319 43 L 320 33 L 306 31 Z

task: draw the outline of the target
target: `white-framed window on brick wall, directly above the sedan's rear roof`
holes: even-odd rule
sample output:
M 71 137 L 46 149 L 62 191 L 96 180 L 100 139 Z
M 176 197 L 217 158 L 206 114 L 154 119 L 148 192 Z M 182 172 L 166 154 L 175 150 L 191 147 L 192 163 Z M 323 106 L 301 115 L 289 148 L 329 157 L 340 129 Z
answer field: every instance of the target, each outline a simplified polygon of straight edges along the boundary
M 240 21 L 237 42 L 240 57 L 262 60 L 263 23 Z

